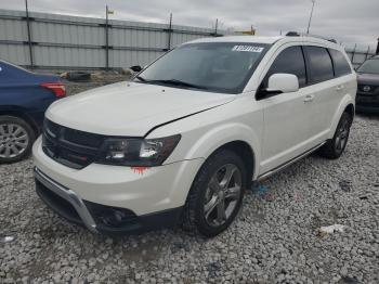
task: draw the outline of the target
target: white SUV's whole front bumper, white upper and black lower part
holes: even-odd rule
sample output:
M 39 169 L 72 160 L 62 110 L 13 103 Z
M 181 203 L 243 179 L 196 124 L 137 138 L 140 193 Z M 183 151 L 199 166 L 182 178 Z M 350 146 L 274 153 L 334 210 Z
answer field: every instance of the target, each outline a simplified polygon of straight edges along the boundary
M 38 139 L 32 149 L 36 190 L 51 208 L 92 232 L 134 233 L 171 227 L 181 214 L 202 159 L 183 160 L 141 172 L 91 164 L 73 169 L 47 156 Z M 110 227 L 101 214 L 120 210 L 128 222 Z

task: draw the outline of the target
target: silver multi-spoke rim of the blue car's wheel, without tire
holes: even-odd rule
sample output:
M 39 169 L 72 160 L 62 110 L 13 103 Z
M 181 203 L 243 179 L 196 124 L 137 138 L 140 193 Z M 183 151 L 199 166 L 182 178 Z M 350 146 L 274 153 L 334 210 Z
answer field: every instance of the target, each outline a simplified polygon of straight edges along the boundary
M 29 135 L 26 129 L 16 124 L 0 125 L 0 158 L 14 158 L 28 147 Z

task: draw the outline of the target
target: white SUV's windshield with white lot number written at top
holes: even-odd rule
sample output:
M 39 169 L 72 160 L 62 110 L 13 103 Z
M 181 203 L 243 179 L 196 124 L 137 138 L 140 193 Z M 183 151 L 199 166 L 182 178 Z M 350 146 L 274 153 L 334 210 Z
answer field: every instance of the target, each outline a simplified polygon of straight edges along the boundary
M 269 44 L 202 42 L 181 46 L 134 81 L 224 93 L 241 92 Z

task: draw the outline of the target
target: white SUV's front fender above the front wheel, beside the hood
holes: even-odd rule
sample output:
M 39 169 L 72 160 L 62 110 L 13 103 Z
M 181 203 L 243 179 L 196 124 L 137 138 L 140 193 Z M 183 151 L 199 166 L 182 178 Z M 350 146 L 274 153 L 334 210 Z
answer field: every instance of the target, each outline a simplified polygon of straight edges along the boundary
M 246 94 L 225 105 L 157 128 L 148 138 L 174 133 L 182 135 L 165 164 L 207 159 L 215 150 L 230 142 L 245 142 L 253 154 L 256 178 L 261 159 L 259 138 L 262 137 L 263 125 L 263 111 L 251 100 L 251 94 Z

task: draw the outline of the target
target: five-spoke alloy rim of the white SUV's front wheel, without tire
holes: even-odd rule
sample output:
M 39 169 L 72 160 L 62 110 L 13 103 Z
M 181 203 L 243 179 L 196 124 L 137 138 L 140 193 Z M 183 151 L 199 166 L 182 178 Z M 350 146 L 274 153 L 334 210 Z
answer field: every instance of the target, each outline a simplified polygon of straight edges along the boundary
M 210 227 L 224 224 L 237 207 L 241 194 L 241 172 L 233 164 L 219 168 L 208 183 L 204 214 Z

